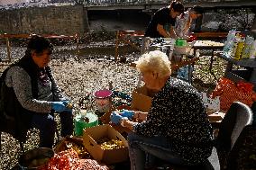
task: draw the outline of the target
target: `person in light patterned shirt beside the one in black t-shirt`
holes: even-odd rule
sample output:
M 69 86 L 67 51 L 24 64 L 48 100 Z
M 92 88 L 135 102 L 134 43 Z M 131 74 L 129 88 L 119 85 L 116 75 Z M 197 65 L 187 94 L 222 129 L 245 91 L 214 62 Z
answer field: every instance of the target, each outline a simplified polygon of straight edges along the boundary
M 180 38 L 187 39 L 191 24 L 198 17 L 201 17 L 204 13 L 204 8 L 201 6 L 193 6 L 189 8 L 185 13 L 181 13 L 176 20 L 175 31 Z

